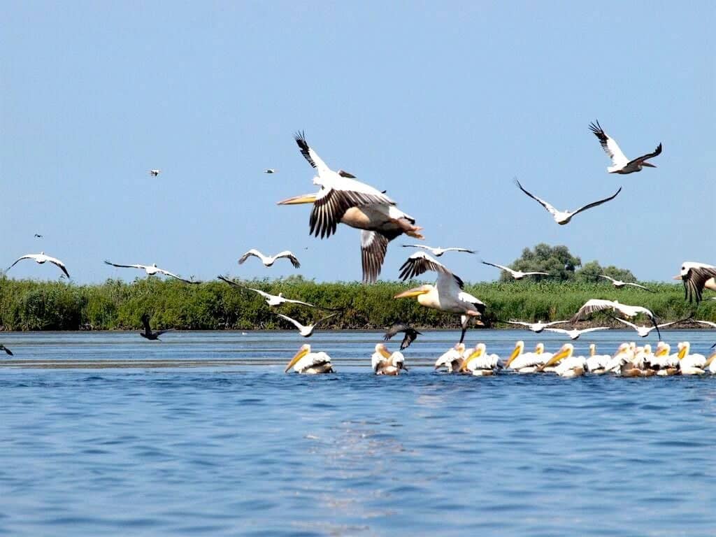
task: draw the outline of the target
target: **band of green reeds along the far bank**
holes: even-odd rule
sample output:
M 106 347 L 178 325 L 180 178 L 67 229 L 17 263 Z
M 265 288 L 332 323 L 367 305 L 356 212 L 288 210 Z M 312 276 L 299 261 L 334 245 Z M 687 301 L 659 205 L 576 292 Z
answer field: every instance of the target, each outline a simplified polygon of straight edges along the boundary
M 457 328 L 456 315 L 419 306 L 415 299 L 393 295 L 415 282 L 316 283 L 300 276 L 279 280 L 252 280 L 242 284 L 291 299 L 344 308 L 322 325 L 333 329 L 383 329 L 395 321 L 416 327 Z M 695 311 L 684 301 L 681 284 L 646 284 L 657 291 L 614 289 L 608 282 L 496 282 L 466 284 L 465 290 L 487 304 L 487 318 L 526 321 L 569 319 L 591 298 L 618 300 L 647 306 L 662 321 L 673 321 Z M 155 328 L 190 330 L 287 329 L 292 326 L 273 314 L 280 311 L 304 322 L 324 312 L 284 304 L 271 309 L 253 291 L 236 289 L 222 281 L 199 285 L 158 278 L 132 283 L 107 280 L 100 285 L 74 285 L 62 281 L 14 280 L 0 277 L 0 326 L 4 330 L 113 330 L 138 329 L 144 313 Z M 697 319 L 716 321 L 716 301 L 702 302 Z M 597 314 L 598 324 L 616 324 Z M 504 326 L 496 324 L 496 326 Z

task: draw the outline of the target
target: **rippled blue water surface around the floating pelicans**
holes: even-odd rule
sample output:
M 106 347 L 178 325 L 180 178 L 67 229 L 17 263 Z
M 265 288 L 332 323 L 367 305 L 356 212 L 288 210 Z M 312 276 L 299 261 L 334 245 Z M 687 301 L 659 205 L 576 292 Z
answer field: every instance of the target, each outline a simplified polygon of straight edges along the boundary
M 588 335 L 580 354 L 634 339 Z M 0 334 L 0 534 L 715 534 L 716 377 L 432 372 L 457 338 L 374 377 L 369 332 Z M 283 373 L 306 341 L 337 374 Z

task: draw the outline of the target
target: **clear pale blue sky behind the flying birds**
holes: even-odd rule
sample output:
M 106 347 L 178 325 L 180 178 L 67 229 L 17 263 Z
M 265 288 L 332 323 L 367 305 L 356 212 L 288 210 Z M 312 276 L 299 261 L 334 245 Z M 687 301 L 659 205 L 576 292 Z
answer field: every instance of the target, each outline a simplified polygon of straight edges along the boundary
M 465 280 L 499 276 L 480 257 L 539 242 L 669 279 L 684 260 L 716 263 L 702 241 L 715 21 L 706 1 L 6 3 L 0 264 L 44 250 L 81 283 L 133 279 L 105 258 L 199 279 L 360 279 L 359 231 L 321 241 L 307 205 L 276 205 L 314 190 L 292 139 L 305 130 L 326 163 L 387 189 L 425 243 L 477 248 L 442 258 Z M 595 118 L 629 157 L 662 142 L 658 168 L 607 174 Z M 513 177 L 558 208 L 624 190 L 557 226 Z M 291 249 L 301 269 L 238 266 L 252 247 Z

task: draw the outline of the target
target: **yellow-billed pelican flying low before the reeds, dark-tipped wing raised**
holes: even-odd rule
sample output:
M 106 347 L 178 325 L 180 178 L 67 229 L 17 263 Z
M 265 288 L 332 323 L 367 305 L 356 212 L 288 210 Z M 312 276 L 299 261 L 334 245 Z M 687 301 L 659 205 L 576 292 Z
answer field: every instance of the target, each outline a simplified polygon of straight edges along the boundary
M 482 316 L 485 313 L 485 304 L 473 295 L 465 293 L 463 280 L 425 252 L 413 253 L 402 264 L 400 271 L 400 279 L 403 281 L 420 276 L 427 271 L 437 272 L 435 285 L 421 285 L 398 293 L 393 298 L 402 299 L 415 296 L 417 303 L 421 306 L 460 314 L 463 326 L 463 333 L 460 335 L 460 343 L 462 343 L 465 339 L 465 332 L 468 330 L 470 317 Z

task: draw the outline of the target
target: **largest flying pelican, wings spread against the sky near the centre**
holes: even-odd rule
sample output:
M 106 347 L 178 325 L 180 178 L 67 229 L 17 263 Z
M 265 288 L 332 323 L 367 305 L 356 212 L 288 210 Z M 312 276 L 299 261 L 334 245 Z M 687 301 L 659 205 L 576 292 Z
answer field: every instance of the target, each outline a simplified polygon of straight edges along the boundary
M 363 281 L 376 281 L 388 243 L 402 233 L 422 239 L 419 233 L 422 228 L 415 226 L 415 218 L 400 211 L 384 192 L 361 183 L 343 170 L 331 170 L 309 147 L 303 133 L 296 134 L 295 139 L 301 155 L 316 168 L 318 175 L 314 177 L 314 185 L 320 185 L 321 189 L 314 194 L 279 201 L 279 205 L 313 203 L 309 234 L 316 237 L 331 236 L 339 223 L 361 229 Z

